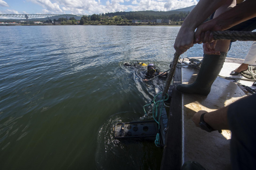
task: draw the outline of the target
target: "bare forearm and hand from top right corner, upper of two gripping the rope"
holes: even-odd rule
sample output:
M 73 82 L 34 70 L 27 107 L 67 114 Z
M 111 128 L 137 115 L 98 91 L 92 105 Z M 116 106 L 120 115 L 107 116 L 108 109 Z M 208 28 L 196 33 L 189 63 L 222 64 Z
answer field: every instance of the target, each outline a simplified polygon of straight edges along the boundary
M 211 42 L 212 40 L 209 39 L 210 34 L 204 36 L 204 32 L 208 30 L 223 31 L 243 21 L 256 17 L 255 6 L 255 0 L 246 0 L 218 17 L 201 24 L 195 32 L 196 42 Z

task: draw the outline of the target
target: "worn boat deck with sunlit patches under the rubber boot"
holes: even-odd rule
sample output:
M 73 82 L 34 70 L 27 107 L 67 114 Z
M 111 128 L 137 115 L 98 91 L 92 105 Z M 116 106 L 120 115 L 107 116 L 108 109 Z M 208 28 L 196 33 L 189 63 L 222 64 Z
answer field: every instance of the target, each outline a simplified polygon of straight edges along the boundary
M 227 58 L 224 66 L 221 70 L 221 76 L 230 76 L 229 73 L 237 68 L 242 63 L 240 59 Z M 177 69 L 176 69 L 177 70 Z M 178 71 L 178 70 L 177 70 Z M 176 74 L 178 74 L 176 71 Z M 181 83 L 191 84 L 195 81 L 198 69 L 191 66 L 181 67 Z M 179 76 L 179 75 L 178 75 Z M 241 77 L 238 75 L 237 77 Z M 177 75 L 176 75 L 177 78 Z M 240 80 L 241 81 L 241 80 Z M 253 82 L 243 82 L 247 86 L 251 86 Z M 175 84 L 175 80 L 174 80 Z M 175 87 L 175 85 L 174 85 Z M 252 87 L 252 86 L 251 86 Z M 254 87 L 253 87 L 254 88 Z M 166 141 L 162 167 L 165 169 L 167 156 L 169 154 L 175 154 L 180 157 L 181 161 L 179 164 L 183 164 L 187 161 L 196 161 L 200 163 L 204 168 L 209 170 L 226 170 L 231 169 L 230 166 L 230 139 L 231 131 L 222 130 L 222 133 L 213 131 L 211 133 L 206 132 L 199 127 L 196 127 L 192 121 L 193 115 L 200 111 L 205 110 L 208 112 L 217 110 L 221 107 L 227 106 L 236 100 L 247 96 L 248 92 L 244 92 L 235 82 L 227 80 L 221 77 L 217 77 L 212 85 L 211 92 L 208 96 L 202 96 L 197 94 L 179 93 L 174 88 L 173 94 L 181 95 L 181 141 L 180 148 L 177 148 L 173 142 Z M 173 97 L 172 97 L 172 101 Z M 176 104 L 178 106 L 179 104 Z M 172 107 L 172 105 L 171 105 Z M 174 107 L 174 106 L 173 106 Z M 177 109 L 176 109 L 177 110 Z M 175 113 L 174 108 L 170 108 L 169 119 L 173 119 L 168 124 L 168 131 L 166 140 L 176 140 L 179 137 L 172 137 L 175 134 L 175 127 L 170 123 L 174 123 L 176 118 L 173 117 Z M 179 125 L 176 128 L 180 127 Z M 170 128 L 172 127 L 172 128 Z M 177 133 L 176 133 L 177 135 Z M 179 155 L 180 152 L 180 155 Z M 171 156 L 172 157 L 172 156 Z M 173 156 L 175 157 L 175 156 Z M 171 158 L 170 158 L 171 159 Z M 170 160 L 173 162 L 173 160 Z M 176 162 L 176 161 L 175 161 Z M 172 167 L 172 163 L 168 163 Z M 180 167 L 181 167 L 180 165 Z M 165 166 L 165 167 L 164 167 Z M 179 168 L 178 168 L 179 169 Z

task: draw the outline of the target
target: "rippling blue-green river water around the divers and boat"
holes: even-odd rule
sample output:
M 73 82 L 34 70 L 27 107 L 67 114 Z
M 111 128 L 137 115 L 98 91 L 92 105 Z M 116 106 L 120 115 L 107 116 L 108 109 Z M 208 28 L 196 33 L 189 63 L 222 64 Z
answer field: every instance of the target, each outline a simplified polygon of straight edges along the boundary
M 159 169 L 162 148 L 114 140 L 113 127 L 152 118 L 142 106 L 163 84 L 123 63 L 167 70 L 179 28 L 1 26 L 1 169 Z M 233 43 L 228 57 L 251 44 Z M 182 56 L 202 53 L 194 45 Z

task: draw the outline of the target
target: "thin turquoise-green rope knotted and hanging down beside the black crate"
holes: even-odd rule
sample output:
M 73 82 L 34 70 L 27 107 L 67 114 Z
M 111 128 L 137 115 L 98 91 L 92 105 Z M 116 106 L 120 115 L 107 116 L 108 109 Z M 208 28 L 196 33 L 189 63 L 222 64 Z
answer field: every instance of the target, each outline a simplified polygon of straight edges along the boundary
M 162 94 L 162 92 L 161 92 L 161 93 L 158 93 L 158 94 L 154 97 L 154 99 L 152 100 L 151 103 L 146 104 L 146 105 L 143 106 L 144 113 L 145 113 L 145 115 L 147 116 L 147 113 L 146 113 L 146 111 L 145 111 L 145 107 L 148 106 L 148 105 L 150 105 L 150 104 L 152 104 L 152 103 L 154 103 L 152 115 L 153 115 L 154 120 L 155 120 L 156 123 L 158 124 L 158 133 L 156 134 L 156 140 L 155 140 L 155 145 L 156 145 L 157 147 L 160 147 L 160 146 L 161 146 L 161 144 L 160 144 L 160 119 L 161 119 L 161 115 L 162 115 L 162 109 L 163 109 L 163 107 L 164 107 L 164 101 L 167 101 L 167 100 L 169 99 L 169 95 L 168 95 L 168 93 L 166 93 L 162 100 L 156 101 L 157 96 L 160 95 L 160 94 Z M 157 109 L 157 108 L 158 108 L 160 102 L 162 102 L 162 105 L 161 105 L 161 111 L 160 111 L 160 114 L 159 114 L 159 120 L 157 120 L 157 119 L 158 119 L 158 118 L 157 118 L 157 115 L 158 115 L 158 109 Z

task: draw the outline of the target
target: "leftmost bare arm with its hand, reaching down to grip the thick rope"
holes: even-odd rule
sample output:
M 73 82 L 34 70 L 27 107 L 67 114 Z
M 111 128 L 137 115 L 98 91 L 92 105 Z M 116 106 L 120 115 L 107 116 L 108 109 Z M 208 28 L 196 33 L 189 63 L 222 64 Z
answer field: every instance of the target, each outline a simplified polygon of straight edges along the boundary
M 176 37 L 174 48 L 178 54 L 193 47 L 195 29 L 217 8 L 232 0 L 200 0 L 191 13 L 184 20 Z

